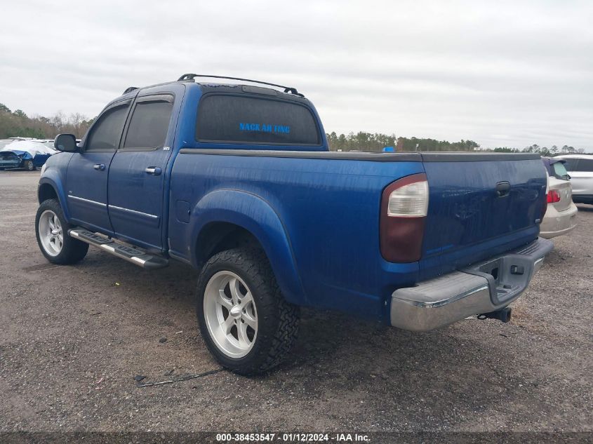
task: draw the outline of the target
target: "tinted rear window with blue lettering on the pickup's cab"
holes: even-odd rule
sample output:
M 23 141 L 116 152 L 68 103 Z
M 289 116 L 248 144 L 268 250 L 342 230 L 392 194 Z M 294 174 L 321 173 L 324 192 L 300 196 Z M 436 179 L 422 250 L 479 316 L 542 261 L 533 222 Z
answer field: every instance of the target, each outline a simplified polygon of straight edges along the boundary
M 196 140 L 277 145 L 320 143 L 317 121 L 307 107 L 240 95 L 206 95 L 201 100 Z

